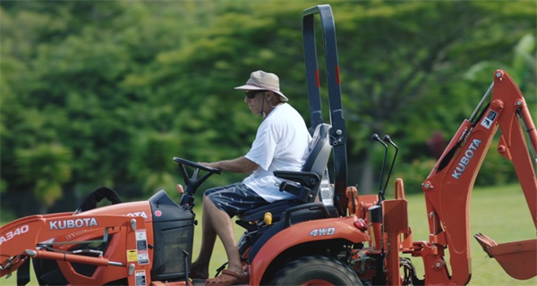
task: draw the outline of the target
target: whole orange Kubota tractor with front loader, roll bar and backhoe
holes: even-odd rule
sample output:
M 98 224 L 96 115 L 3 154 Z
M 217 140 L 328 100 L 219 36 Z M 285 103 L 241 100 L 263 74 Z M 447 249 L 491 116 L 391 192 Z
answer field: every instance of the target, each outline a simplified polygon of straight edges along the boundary
M 326 56 L 329 124 L 320 112 L 313 29 L 318 14 Z M 379 194 L 360 195 L 347 186 L 345 121 L 329 5 L 304 11 L 303 40 L 313 144 L 302 172 L 275 172 L 283 181 L 280 190 L 296 198 L 251 209 L 237 220 L 245 229 L 239 249 L 250 285 L 468 283 L 472 274 L 470 197 L 497 130 L 501 130 L 497 151 L 514 165 L 537 227 L 537 130 L 522 93 L 506 71 L 494 72 L 481 102 L 423 181 L 430 235 L 429 241 L 413 241 L 403 181 L 396 179 L 394 199 L 384 196 L 391 170 Z M 373 135 L 373 139 L 386 150 L 390 146 L 398 150 L 388 136 Z M 332 181 L 327 168 L 330 156 Z M 392 167 L 395 159 L 396 153 Z M 174 161 L 185 181 L 179 204 L 164 190 L 147 201 L 122 203 L 114 190 L 100 188 L 74 214 L 38 214 L 4 225 L 0 229 L 0 276 L 18 270 L 17 283 L 26 284 L 31 260 L 39 284 L 194 284 L 189 278 L 196 224 L 194 194 L 220 171 L 182 158 Z M 103 198 L 112 205 L 96 207 Z M 512 277 L 525 280 L 537 274 L 537 240 L 497 244 L 481 233 L 475 238 Z M 416 277 L 411 259 L 402 254 L 422 258 L 422 279 Z

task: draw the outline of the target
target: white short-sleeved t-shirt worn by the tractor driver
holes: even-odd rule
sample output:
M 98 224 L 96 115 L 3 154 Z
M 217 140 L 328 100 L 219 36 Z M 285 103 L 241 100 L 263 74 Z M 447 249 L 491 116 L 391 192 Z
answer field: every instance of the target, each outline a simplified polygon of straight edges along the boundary
M 274 171 L 301 171 L 308 156 L 310 133 L 303 117 L 288 104 L 277 105 L 261 122 L 247 159 L 260 167 L 243 183 L 268 202 L 293 198 L 279 191 L 280 179 Z

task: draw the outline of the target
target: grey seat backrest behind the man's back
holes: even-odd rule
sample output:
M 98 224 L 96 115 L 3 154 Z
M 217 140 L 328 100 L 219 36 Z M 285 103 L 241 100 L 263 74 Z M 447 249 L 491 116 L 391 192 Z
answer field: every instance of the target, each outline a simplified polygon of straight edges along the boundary
M 325 172 L 332 151 L 328 130 L 330 125 L 327 123 L 320 123 L 315 127 L 311 137 L 310 155 L 303 165 L 303 172 L 317 172 L 320 175 Z

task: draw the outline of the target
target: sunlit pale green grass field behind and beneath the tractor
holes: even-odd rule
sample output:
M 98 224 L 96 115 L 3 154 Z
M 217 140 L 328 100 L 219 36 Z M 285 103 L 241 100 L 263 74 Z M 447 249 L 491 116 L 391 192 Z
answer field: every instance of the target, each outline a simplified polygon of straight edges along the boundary
M 390 194 L 387 198 L 390 198 Z M 429 228 L 422 195 L 407 196 L 409 206 L 409 224 L 413 230 L 413 240 L 428 240 Z M 196 211 L 197 219 L 201 220 L 201 211 Z M 522 190 L 517 186 L 474 189 L 471 205 L 472 234 L 482 232 L 498 243 L 535 239 L 535 228 L 525 203 Z M 200 249 L 200 225 L 194 235 L 195 258 Z M 235 226 L 237 240 L 243 229 Z M 470 285 L 537 285 L 537 278 L 518 281 L 511 278 L 499 266 L 494 258 L 489 258 L 476 240 L 472 240 L 473 274 Z M 220 265 L 226 262 L 226 253 L 219 240 L 213 253 L 210 265 L 211 275 Z M 423 266 L 421 259 L 413 257 L 413 264 L 422 278 Z M 0 286 L 16 285 L 16 275 L 9 279 L 0 279 Z M 29 285 L 37 285 L 32 277 Z

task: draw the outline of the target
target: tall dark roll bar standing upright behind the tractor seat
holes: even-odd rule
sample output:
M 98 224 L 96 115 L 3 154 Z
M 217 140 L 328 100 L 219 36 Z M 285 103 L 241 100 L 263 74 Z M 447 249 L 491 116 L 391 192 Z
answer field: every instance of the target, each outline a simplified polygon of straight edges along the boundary
M 315 15 L 320 16 L 323 46 L 328 82 L 328 103 L 330 108 L 330 143 L 334 147 L 334 206 L 340 215 L 346 215 L 347 198 L 347 157 L 346 129 L 341 102 L 339 65 L 337 62 L 336 26 L 330 5 L 323 4 L 303 11 L 303 46 L 310 101 L 311 128 L 323 122 L 320 98 L 320 72 L 315 45 Z

